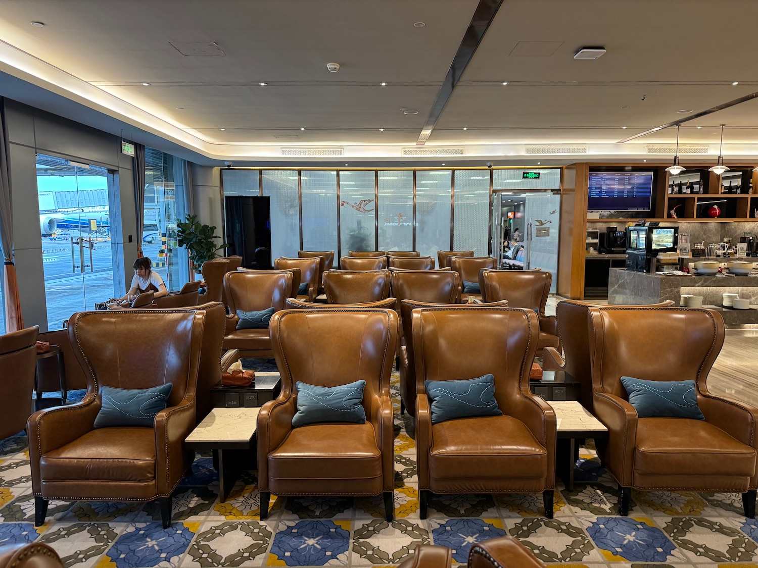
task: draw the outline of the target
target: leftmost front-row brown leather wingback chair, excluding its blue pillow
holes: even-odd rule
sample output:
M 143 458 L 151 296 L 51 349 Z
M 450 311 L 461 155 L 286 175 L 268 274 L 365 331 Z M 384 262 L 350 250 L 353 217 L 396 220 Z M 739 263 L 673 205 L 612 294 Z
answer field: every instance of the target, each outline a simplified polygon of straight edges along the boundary
M 40 410 L 27 424 L 36 526 L 45 522 L 49 499 L 158 499 L 168 528 L 171 494 L 192 463 L 184 438 L 195 428 L 204 319 L 204 311 L 124 310 L 68 320 L 87 392 L 80 403 Z M 147 389 L 167 382 L 174 388 L 153 428 L 93 427 L 102 386 Z

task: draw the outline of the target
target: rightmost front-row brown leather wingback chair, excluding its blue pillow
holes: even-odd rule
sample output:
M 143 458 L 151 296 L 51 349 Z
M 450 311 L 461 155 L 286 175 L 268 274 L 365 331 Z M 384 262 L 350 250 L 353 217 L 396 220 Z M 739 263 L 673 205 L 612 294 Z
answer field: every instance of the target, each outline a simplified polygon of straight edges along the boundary
M 721 314 L 590 307 L 589 322 L 595 416 L 608 428 L 601 457 L 622 488 L 619 513 L 628 513 L 634 488 L 741 492 L 745 516 L 755 517 L 758 409 L 712 395 L 706 385 L 724 343 Z M 705 420 L 638 417 L 622 376 L 694 380 Z

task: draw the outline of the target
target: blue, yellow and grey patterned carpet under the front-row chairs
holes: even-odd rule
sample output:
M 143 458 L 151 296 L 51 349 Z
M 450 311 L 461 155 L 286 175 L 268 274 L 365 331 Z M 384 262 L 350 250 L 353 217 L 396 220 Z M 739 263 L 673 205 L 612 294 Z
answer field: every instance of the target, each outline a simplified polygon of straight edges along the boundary
M 397 375 L 393 393 L 397 395 Z M 396 413 L 399 401 L 396 399 Z M 209 454 L 174 497 L 174 523 L 161 529 L 156 504 L 52 501 L 47 523 L 33 526 L 29 453 L 23 435 L 0 443 L 0 545 L 44 541 L 77 568 L 147 566 L 392 566 L 415 545 L 453 548 L 465 563 L 473 541 L 509 533 L 547 563 L 563 566 L 758 566 L 758 523 L 746 521 L 739 495 L 657 492 L 632 496 L 629 517 L 615 516 L 619 492 L 594 452 L 582 448 L 574 491 L 559 485 L 555 519 L 540 495 L 449 495 L 418 519 L 412 420 L 396 414 L 396 520 L 377 498 L 272 498 L 258 520 L 249 473 L 226 503 Z

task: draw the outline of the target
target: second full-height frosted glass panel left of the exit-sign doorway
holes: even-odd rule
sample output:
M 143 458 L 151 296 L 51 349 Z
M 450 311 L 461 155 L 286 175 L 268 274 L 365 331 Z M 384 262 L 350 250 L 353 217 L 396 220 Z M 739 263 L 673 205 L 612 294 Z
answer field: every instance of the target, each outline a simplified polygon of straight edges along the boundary
M 450 250 L 450 170 L 416 172 L 416 250 L 434 258 Z

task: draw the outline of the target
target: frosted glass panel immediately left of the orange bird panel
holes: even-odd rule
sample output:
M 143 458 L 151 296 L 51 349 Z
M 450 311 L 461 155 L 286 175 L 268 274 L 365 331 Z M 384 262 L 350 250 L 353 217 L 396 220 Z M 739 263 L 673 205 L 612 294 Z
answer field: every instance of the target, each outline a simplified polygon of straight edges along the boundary
M 303 170 L 302 248 L 337 254 L 337 172 Z

